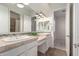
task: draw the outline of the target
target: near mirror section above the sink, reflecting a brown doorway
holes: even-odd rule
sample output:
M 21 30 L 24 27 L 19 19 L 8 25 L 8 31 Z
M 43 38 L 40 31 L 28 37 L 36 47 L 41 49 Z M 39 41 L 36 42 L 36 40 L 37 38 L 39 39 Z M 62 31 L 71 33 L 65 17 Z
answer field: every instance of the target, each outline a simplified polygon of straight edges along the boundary
M 16 3 L 0 4 L 0 35 L 31 32 L 31 8 L 18 8 Z

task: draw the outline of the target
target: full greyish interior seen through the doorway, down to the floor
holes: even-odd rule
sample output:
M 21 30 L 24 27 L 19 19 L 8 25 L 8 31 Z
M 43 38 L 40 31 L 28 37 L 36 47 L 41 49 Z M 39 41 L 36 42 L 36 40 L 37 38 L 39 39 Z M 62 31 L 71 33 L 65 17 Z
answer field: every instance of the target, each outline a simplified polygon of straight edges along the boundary
M 56 14 L 57 15 L 57 14 Z M 55 47 L 65 48 L 65 14 L 55 16 Z

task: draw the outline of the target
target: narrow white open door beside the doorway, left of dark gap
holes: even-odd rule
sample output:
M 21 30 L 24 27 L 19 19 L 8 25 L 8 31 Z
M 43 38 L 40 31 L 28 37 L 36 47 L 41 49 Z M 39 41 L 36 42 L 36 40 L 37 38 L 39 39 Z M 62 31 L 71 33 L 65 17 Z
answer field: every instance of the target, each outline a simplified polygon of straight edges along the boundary
M 66 53 L 70 54 L 70 4 L 66 5 Z

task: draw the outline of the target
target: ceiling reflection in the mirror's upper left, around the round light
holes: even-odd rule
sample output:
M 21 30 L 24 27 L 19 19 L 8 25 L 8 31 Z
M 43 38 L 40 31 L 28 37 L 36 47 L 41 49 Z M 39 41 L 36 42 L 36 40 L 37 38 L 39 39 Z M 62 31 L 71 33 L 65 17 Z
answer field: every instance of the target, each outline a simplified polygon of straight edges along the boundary
M 29 6 L 25 6 L 24 8 L 18 8 L 16 6 L 17 3 L 1 3 L 1 5 L 4 5 L 8 8 L 10 8 L 12 11 L 16 13 L 21 13 L 21 14 L 27 14 L 30 15 L 33 10 Z

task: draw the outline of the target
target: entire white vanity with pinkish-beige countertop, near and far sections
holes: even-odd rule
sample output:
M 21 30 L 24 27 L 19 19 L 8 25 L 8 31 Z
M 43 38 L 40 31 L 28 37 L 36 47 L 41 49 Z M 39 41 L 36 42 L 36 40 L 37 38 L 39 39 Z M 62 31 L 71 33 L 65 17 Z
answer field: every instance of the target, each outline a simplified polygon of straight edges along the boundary
M 49 48 L 50 33 L 39 33 L 36 36 L 27 34 L 0 37 L 0 56 L 37 56 Z

